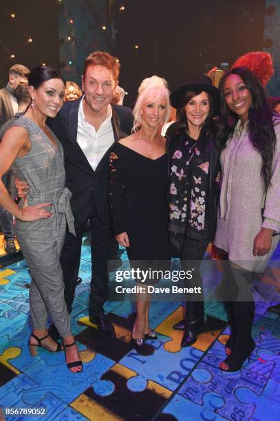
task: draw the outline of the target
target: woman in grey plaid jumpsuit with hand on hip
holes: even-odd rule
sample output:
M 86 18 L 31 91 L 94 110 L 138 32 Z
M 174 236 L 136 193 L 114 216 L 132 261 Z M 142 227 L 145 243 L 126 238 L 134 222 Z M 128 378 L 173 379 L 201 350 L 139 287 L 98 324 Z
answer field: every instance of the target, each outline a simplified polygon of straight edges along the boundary
M 63 349 L 48 335 L 50 316 L 63 338 L 67 366 L 77 372 L 83 366 L 71 333 L 59 263 L 66 225 L 75 235 L 71 193 L 65 188 L 63 147 L 45 125 L 46 118 L 56 116 L 63 105 L 64 81 L 52 67 L 39 66 L 28 82 L 30 107 L 12 122 L 0 144 L 0 176 L 12 168 L 30 186 L 28 197 L 18 206 L 0 182 L 0 205 L 17 217 L 17 239 L 32 278 L 30 353 L 36 355 L 37 347 L 50 352 Z

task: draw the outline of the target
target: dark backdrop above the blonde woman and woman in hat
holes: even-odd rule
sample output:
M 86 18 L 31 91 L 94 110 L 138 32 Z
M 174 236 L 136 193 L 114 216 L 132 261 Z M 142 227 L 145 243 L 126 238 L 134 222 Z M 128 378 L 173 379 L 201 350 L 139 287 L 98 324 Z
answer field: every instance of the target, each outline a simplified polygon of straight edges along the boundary
M 265 0 L 127 0 L 116 15 L 120 86 L 133 106 L 144 77 L 157 74 L 172 89 L 212 62 L 233 63 L 263 49 Z M 138 44 L 135 50 L 133 45 Z

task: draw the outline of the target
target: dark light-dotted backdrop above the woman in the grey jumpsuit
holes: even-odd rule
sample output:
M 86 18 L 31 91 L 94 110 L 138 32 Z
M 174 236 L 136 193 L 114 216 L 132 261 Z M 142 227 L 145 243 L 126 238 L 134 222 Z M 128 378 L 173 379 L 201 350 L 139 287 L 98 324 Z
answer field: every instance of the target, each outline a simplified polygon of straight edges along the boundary
M 46 63 L 59 69 L 58 7 L 55 0 L 0 0 L 0 87 L 14 63 L 30 69 Z M 27 42 L 30 37 L 32 43 Z

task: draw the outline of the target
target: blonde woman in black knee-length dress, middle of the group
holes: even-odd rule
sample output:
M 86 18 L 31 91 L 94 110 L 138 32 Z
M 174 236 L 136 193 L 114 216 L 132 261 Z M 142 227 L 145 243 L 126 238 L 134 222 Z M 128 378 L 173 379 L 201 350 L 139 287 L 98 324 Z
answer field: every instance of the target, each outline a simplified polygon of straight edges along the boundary
M 166 81 L 158 76 L 144 79 L 138 92 L 133 133 L 119 140 L 114 149 L 118 159 L 111 170 L 109 197 L 116 240 L 127 248 L 130 261 L 142 261 L 140 264 L 149 268 L 151 261 L 162 261 L 163 265 L 171 259 L 166 139 L 160 134 L 169 118 L 170 104 Z M 156 338 L 149 326 L 147 296 L 139 297 L 136 308 L 131 342 L 138 353 L 144 354 L 144 338 Z

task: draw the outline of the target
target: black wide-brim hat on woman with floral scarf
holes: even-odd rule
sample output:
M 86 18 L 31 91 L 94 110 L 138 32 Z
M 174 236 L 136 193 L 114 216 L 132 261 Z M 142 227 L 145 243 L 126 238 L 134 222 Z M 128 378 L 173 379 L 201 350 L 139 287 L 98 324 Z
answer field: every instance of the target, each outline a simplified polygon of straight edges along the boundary
M 204 91 L 213 99 L 214 114 L 217 116 L 219 114 L 219 89 L 212 85 L 211 78 L 208 78 L 206 74 L 201 74 L 196 76 L 191 80 L 191 83 L 181 86 L 172 92 L 170 96 L 171 105 L 174 108 L 184 107 L 186 102 L 184 102 L 186 91 Z

